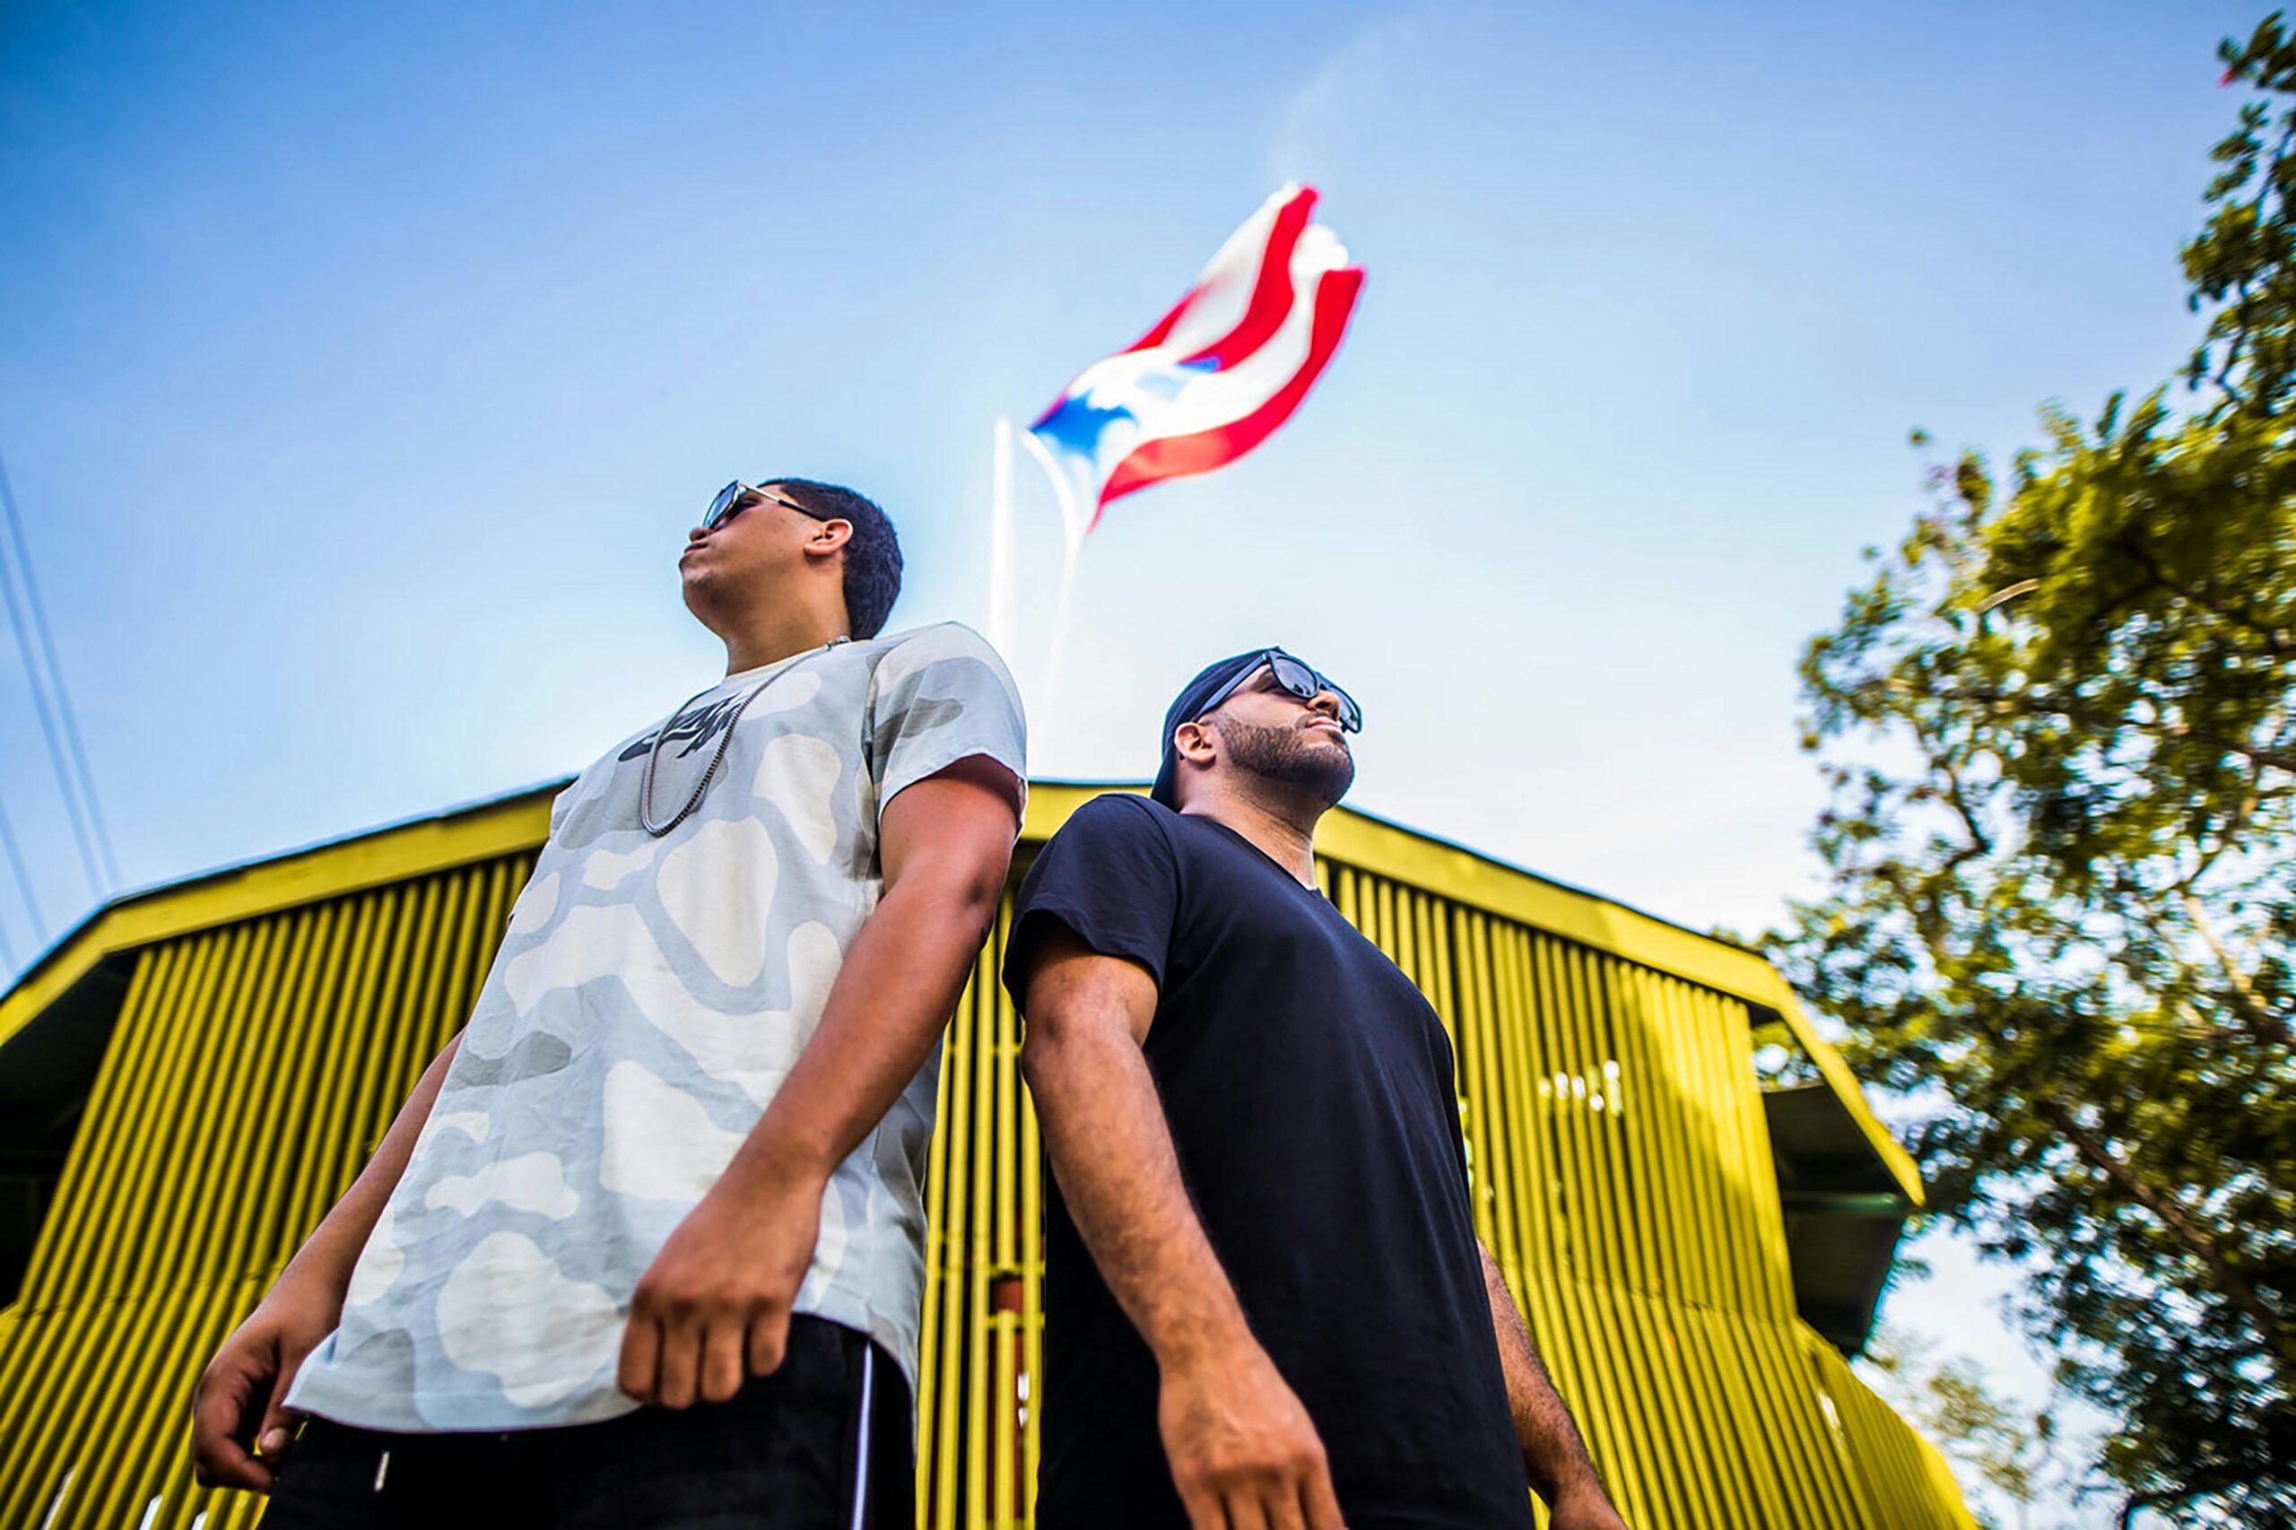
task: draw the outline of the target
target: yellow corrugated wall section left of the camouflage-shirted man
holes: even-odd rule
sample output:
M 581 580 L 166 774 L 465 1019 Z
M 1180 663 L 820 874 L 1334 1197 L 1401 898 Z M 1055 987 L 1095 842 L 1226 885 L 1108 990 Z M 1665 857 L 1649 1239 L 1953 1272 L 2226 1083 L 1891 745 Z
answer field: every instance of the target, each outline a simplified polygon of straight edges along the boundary
M 533 855 L 147 946 L 0 1349 L 0 1525 L 253 1523 L 191 1383 L 468 1013 Z

